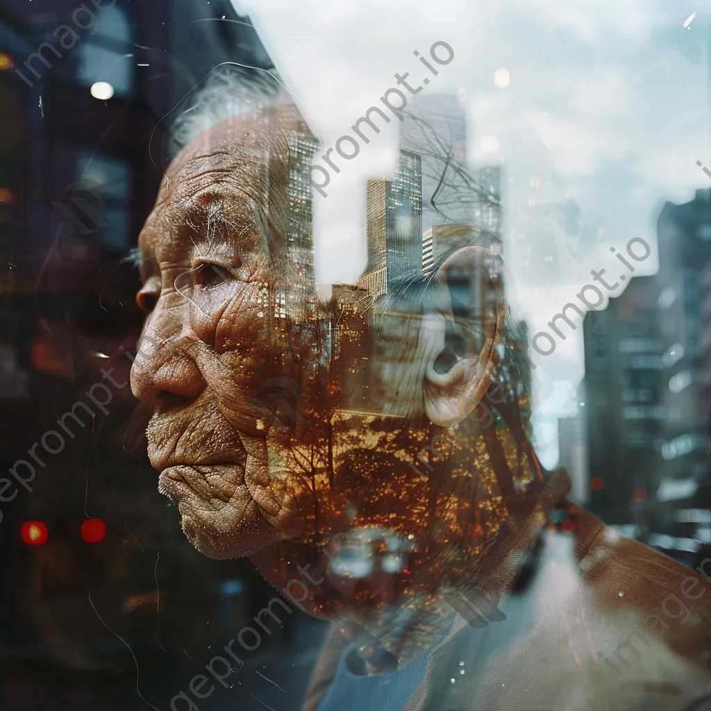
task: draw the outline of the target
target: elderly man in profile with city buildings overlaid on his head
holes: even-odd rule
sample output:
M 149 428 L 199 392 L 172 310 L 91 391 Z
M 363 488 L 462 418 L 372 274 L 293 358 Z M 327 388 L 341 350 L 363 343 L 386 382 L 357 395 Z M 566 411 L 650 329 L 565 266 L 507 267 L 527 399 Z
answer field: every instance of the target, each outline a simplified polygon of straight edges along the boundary
M 193 545 L 333 621 L 304 707 L 711 708 L 711 560 L 616 535 L 541 469 L 498 257 L 318 294 L 309 132 L 230 82 L 186 112 L 139 237 L 132 389 Z

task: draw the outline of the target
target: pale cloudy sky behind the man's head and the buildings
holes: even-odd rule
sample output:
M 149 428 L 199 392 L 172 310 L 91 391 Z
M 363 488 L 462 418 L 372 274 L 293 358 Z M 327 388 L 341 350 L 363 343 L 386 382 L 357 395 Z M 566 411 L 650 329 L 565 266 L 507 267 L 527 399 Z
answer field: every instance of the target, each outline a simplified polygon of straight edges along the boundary
M 656 271 L 656 218 L 665 201 L 686 202 L 711 181 L 708 38 L 711 13 L 688 0 L 232 0 L 257 28 L 311 129 L 332 146 L 393 75 L 427 70 L 436 41 L 454 59 L 423 91 L 457 94 L 468 117 L 469 159 L 504 170 L 504 257 L 510 305 L 530 333 L 545 328 L 591 281 L 619 274 L 609 252 L 632 237 L 653 246 L 636 274 Z M 692 14 L 695 16 L 690 19 Z M 685 26 L 686 25 L 686 26 Z M 497 69 L 508 85 L 497 86 Z M 501 77 L 499 73 L 498 77 Z M 497 82 L 499 85 L 506 82 Z M 395 121 L 314 196 L 319 282 L 353 282 L 365 263 L 365 180 L 395 169 Z M 496 137 L 492 139 L 492 137 Z M 343 164 L 344 161 L 341 161 Z M 550 220 L 522 225 L 532 176 L 555 176 L 545 199 L 572 198 L 579 234 Z M 511 237 L 527 228 L 525 250 Z M 508 247 L 507 247 L 508 245 Z M 545 273 L 539 267 L 542 260 Z M 527 264 L 528 262 L 528 264 Z M 616 269 L 616 271 L 614 271 Z M 557 461 L 557 417 L 579 407 L 584 375 L 578 329 L 537 356 L 536 444 Z

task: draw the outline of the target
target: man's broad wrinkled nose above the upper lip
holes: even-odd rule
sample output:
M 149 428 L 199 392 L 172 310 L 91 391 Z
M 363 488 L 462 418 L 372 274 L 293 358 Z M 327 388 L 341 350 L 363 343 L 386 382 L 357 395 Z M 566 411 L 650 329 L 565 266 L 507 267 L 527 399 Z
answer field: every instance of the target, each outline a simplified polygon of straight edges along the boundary
M 194 400 L 205 379 L 191 358 L 191 339 L 185 334 L 161 334 L 150 326 L 141 336 L 131 368 L 131 390 L 152 407 L 171 407 Z

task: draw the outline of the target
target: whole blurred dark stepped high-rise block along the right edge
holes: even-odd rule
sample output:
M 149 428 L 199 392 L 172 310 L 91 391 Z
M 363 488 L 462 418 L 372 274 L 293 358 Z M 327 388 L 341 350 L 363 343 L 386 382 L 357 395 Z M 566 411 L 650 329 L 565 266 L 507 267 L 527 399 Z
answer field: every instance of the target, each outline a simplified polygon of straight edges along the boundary
M 585 317 L 589 475 L 592 510 L 625 523 L 632 508 L 643 527 L 673 534 L 677 509 L 708 496 L 700 277 L 711 258 L 711 190 L 666 203 L 657 233 L 658 273 Z

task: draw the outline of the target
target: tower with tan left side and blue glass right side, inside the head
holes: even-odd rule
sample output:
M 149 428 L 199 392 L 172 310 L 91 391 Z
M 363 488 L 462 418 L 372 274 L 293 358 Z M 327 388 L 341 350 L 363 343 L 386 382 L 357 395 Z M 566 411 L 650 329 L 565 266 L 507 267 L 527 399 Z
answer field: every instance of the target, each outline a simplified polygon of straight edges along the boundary
M 393 279 L 418 274 L 422 269 L 420 156 L 400 151 L 395 178 L 369 180 L 365 202 L 368 264 L 358 284 L 370 274 L 385 269 L 387 290 Z

